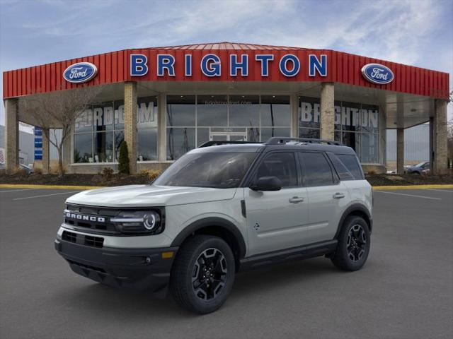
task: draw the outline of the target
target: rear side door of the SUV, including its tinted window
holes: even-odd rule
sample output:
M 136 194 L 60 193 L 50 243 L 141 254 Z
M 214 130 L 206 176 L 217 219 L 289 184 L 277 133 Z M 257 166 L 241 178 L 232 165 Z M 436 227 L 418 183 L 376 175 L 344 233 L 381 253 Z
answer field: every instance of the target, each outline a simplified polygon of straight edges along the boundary
M 309 208 L 310 243 L 333 239 L 340 215 L 349 201 L 328 157 L 322 152 L 299 152 Z

